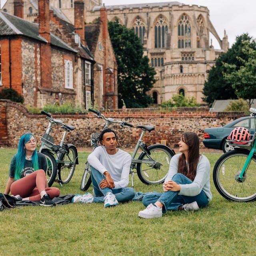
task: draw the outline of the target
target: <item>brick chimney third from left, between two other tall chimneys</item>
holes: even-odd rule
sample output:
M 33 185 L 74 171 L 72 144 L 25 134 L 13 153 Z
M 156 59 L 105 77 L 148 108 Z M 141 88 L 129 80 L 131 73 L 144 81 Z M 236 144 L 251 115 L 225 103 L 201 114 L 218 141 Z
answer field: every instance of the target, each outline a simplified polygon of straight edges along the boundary
M 80 36 L 82 44 L 86 44 L 84 26 L 84 1 L 76 0 L 74 2 L 74 29 Z

